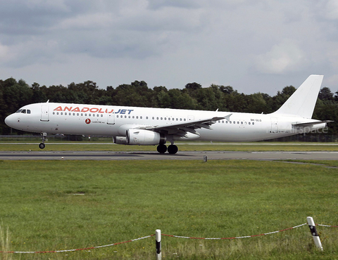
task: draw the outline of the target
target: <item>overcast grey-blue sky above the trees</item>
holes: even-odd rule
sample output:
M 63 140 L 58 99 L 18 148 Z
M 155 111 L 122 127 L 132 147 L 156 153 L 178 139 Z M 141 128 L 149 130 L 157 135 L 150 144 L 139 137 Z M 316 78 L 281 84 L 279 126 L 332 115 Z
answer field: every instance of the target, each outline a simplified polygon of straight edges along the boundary
M 338 91 L 337 0 L 0 0 L 0 79 Z

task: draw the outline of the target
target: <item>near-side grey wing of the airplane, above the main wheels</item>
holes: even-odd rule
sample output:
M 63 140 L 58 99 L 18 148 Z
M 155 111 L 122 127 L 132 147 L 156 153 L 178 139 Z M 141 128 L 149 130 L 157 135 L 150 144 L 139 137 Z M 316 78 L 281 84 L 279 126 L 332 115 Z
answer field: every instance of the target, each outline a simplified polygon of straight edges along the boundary
M 146 130 L 150 131 L 158 131 L 165 134 L 175 134 L 178 136 L 185 136 L 188 132 L 192 134 L 199 133 L 196 131 L 196 129 L 211 129 L 211 124 L 215 124 L 218 120 L 226 119 L 227 121 L 230 120 L 230 115 L 227 115 L 225 117 L 211 117 L 206 119 L 199 119 L 189 122 L 184 122 L 180 124 L 163 124 L 158 126 L 146 126 Z

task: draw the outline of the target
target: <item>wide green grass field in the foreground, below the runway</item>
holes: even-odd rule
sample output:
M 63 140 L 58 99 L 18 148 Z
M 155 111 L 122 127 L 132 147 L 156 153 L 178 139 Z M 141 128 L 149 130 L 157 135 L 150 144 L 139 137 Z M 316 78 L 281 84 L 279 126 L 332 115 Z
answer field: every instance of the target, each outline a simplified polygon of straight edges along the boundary
M 200 238 L 256 235 L 305 223 L 306 216 L 337 226 L 337 176 L 320 165 L 241 160 L 1 161 L 0 225 L 13 251 L 108 245 L 157 228 Z M 338 229 L 318 231 L 324 252 L 302 226 L 241 240 L 163 237 L 163 259 L 337 259 Z M 11 257 L 154 259 L 154 244 L 153 237 Z

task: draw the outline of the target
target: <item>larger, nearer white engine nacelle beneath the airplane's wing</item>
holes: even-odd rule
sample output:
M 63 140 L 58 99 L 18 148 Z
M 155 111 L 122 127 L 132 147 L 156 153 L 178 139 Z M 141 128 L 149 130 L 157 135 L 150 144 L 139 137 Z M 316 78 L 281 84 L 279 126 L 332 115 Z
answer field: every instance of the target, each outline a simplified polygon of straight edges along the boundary
M 158 145 L 166 141 L 165 135 L 144 129 L 126 131 L 128 145 Z

